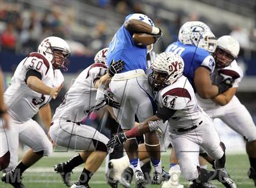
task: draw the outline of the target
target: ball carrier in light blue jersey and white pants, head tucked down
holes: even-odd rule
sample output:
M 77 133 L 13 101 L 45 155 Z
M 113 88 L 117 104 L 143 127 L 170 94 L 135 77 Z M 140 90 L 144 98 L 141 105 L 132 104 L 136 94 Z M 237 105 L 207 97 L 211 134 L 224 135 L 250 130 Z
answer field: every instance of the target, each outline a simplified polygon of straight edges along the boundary
M 148 50 L 145 45 L 136 44 L 133 41 L 134 33 L 147 33 L 154 36 L 153 43 L 162 36 L 161 30 L 154 26 L 154 22 L 148 16 L 135 13 L 126 17 L 124 24 L 110 42 L 107 54 L 108 65 L 116 59 L 125 62 L 123 72 L 115 74 L 110 82 L 110 89 L 115 94 L 116 101 L 121 103 L 121 108 L 114 109 L 114 112 L 124 132 L 133 128 L 135 115 L 140 122 L 143 122 L 155 113 L 152 90 L 144 72 Z M 160 184 L 162 180 L 168 179 L 169 175 L 162 170 L 160 143 L 155 131 L 145 134 L 145 143 L 155 170 L 152 183 Z M 136 187 L 146 187 L 138 161 L 137 140 L 128 139 L 124 144 L 124 149 L 135 175 Z

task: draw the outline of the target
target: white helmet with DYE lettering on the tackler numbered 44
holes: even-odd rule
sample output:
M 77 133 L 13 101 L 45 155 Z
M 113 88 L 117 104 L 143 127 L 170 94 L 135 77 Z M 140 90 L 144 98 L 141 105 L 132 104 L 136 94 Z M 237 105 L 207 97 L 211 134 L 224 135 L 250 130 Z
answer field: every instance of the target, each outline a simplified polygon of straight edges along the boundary
M 163 52 L 157 55 L 151 64 L 152 73 L 149 75 L 149 84 L 154 90 L 173 84 L 183 74 L 183 59 L 173 52 Z

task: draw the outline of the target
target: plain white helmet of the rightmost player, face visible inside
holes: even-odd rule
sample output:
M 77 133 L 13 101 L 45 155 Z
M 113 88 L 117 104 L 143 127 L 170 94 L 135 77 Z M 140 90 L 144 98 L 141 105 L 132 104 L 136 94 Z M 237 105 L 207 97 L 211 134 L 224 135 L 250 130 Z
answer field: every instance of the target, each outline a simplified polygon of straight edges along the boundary
M 221 69 L 230 65 L 230 63 L 238 57 L 240 45 L 235 38 L 229 35 L 221 36 L 217 40 L 217 47 L 214 58 L 216 67 Z

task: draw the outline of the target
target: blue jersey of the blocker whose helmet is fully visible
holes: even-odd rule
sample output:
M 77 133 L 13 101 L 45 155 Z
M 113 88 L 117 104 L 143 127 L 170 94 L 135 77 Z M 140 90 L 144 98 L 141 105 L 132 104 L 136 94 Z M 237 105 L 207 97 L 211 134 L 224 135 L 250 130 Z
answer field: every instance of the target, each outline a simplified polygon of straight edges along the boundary
M 215 60 L 210 53 L 205 50 L 198 48 L 194 45 L 182 44 L 182 42 L 172 42 L 165 52 L 174 52 L 179 54 L 184 61 L 183 75 L 188 78 L 190 84 L 193 86 L 194 91 L 194 72 L 199 66 L 206 67 L 212 73 L 215 69 Z

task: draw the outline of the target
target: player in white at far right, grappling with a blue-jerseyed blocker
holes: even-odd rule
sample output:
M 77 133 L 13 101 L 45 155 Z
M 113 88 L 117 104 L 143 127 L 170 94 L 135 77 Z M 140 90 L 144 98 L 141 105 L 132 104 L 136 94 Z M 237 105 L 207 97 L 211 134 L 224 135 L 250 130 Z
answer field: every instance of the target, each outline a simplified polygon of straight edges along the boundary
M 210 118 L 220 118 L 227 126 L 244 136 L 246 152 L 251 164 L 248 175 L 256 186 L 256 127 L 246 107 L 235 96 L 243 78 L 243 71 L 235 61 L 239 50 L 239 43 L 232 36 L 226 35 L 218 39 L 214 53 L 216 69 L 212 74 L 212 81 L 216 85 L 225 81 L 232 87 L 212 99 L 196 96 L 199 106 Z

